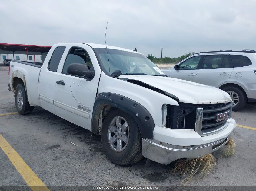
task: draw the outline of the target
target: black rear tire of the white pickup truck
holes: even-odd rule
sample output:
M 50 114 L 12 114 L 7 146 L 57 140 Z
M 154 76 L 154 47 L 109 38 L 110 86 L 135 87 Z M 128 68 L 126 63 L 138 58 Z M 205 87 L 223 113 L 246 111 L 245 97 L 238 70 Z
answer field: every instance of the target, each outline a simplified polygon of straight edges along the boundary
M 18 102 L 19 100 L 19 92 L 21 92 L 22 94 L 22 104 L 20 104 L 20 102 Z M 30 106 L 29 102 L 28 102 L 28 97 L 27 97 L 27 93 L 25 90 L 25 87 L 23 84 L 18 84 L 16 89 L 15 89 L 15 106 L 16 109 L 18 110 L 18 112 L 22 115 L 27 115 L 29 113 L 31 113 L 34 109 L 34 106 Z

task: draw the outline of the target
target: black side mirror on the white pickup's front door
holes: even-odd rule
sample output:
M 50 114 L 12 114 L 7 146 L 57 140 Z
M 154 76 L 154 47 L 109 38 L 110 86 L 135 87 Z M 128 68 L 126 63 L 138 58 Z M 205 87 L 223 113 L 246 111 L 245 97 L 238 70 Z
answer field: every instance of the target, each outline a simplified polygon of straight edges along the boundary
M 68 74 L 76 75 L 79 77 L 92 78 L 94 76 L 94 71 L 89 71 L 87 65 L 72 63 L 67 67 Z

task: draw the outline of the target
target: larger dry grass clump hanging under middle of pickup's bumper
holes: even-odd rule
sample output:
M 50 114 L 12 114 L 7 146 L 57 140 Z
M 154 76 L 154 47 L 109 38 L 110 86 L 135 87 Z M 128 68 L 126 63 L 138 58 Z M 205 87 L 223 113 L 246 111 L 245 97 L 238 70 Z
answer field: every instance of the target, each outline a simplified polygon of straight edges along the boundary
M 192 180 L 195 174 L 199 174 L 198 178 L 207 177 L 211 170 L 215 167 L 215 158 L 212 154 L 207 154 L 200 158 L 192 160 L 180 160 L 178 161 L 173 169 L 173 172 L 180 171 L 183 177 L 182 182 L 186 185 Z

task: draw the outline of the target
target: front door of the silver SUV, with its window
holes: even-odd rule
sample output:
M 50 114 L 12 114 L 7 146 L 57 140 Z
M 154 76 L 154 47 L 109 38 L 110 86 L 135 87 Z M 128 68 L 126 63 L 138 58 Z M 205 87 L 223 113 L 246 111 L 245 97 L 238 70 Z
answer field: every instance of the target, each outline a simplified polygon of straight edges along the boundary
M 172 69 L 170 73 L 171 78 L 178 78 L 196 82 L 196 75 L 200 67 L 203 56 L 194 56 L 178 65 L 178 69 Z

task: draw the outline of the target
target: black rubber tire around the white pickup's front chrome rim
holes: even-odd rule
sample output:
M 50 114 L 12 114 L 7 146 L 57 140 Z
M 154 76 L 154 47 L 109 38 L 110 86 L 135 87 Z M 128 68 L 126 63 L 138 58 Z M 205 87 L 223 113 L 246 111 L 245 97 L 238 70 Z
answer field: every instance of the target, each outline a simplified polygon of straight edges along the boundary
M 128 123 L 129 139 L 124 150 L 117 152 L 112 149 L 108 142 L 108 127 L 110 126 L 113 119 L 117 116 L 123 117 Z M 119 139 L 118 139 L 119 140 Z M 141 151 L 141 133 L 139 131 L 136 121 L 127 113 L 118 109 L 112 109 L 105 117 L 102 131 L 101 131 L 101 142 L 106 156 L 114 164 L 128 165 L 133 164 L 143 158 Z

